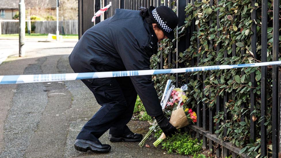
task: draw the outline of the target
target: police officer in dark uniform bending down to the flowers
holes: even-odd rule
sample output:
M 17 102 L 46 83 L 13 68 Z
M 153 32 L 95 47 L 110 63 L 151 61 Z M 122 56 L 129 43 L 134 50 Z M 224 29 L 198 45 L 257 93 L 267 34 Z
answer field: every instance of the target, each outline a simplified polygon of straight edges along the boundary
M 69 56 L 75 73 L 149 70 L 157 42 L 174 39 L 176 14 L 166 6 L 140 10 L 116 9 L 115 15 L 88 29 Z M 147 114 L 157 120 L 166 136 L 176 132 L 164 116 L 151 75 L 81 80 L 101 108 L 82 128 L 75 149 L 108 152 L 111 146 L 98 138 L 109 129 L 111 142 L 139 142 L 126 125 L 132 118 L 137 94 Z

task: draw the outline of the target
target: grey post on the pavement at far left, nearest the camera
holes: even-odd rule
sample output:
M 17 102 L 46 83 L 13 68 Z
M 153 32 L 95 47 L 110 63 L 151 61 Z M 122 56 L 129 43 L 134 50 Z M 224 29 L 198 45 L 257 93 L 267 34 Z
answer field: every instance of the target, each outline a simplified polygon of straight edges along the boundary
M 24 0 L 20 0 L 18 3 L 19 7 L 19 56 L 25 56 L 25 46 L 24 46 L 24 38 L 25 38 L 25 5 Z

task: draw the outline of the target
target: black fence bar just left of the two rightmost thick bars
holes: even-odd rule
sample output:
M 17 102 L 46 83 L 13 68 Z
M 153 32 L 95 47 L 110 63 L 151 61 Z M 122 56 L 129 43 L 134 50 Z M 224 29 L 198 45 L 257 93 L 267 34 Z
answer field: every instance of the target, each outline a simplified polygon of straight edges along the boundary
M 256 20 L 256 9 L 255 9 L 255 3 L 256 0 L 252 0 L 252 7 L 253 11 L 251 14 L 251 19 L 252 19 L 252 35 L 251 35 L 251 51 L 254 54 L 254 57 L 256 58 L 256 51 L 257 51 L 257 28 L 256 28 L 256 23 L 254 20 Z M 257 85 L 256 79 L 255 79 L 255 72 L 251 73 L 251 82 L 252 82 L 252 88 L 251 88 L 251 95 L 250 95 L 250 102 L 251 102 L 251 116 L 250 116 L 250 121 L 251 121 L 251 126 L 250 126 L 250 137 L 254 142 L 256 141 L 256 122 L 253 121 L 252 117 L 254 116 L 252 112 L 254 111 L 254 106 L 256 106 L 256 94 L 254 93 L 254 89 Z

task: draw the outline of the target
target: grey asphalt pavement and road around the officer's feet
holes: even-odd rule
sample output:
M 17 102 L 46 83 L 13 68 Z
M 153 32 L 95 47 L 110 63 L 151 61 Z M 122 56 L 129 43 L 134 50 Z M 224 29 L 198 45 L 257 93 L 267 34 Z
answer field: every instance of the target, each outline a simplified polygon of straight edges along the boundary
M 0 40 L 0 75 L 73 73 L 68 56 L 76 42 L 26 41 L 26 57 L 17 57 L 17 40 Z M 5 49 L 4 49 L 5 48 Z M 10 52 L 9 52 L 10 51 Z M 164 154 L 152 146 L 108 140 L 109 153 L 76 151 L 73 144 L 82 126 L 100 108 L 93 94 L 79 80 L 0 85 L 0 157 L 182 157 Z M 133 132 L 145 134 L 149 124 L 130 121 Z

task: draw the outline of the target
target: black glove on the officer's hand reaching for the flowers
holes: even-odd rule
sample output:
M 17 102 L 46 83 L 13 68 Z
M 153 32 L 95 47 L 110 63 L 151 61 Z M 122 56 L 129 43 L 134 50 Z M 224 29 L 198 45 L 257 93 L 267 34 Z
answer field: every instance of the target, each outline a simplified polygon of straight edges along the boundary
M 161 130 L 164 132 L 164 134 L 168 136 L 172 136 L 173 134 L 176 134 L 177 129 L 171 125 L 169 120 L 164 116 L 164 114 L 155 116 L 155 119 L 161 128 Z

